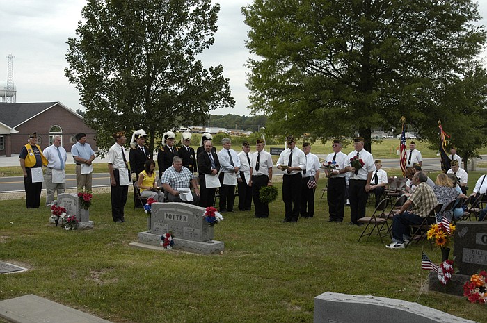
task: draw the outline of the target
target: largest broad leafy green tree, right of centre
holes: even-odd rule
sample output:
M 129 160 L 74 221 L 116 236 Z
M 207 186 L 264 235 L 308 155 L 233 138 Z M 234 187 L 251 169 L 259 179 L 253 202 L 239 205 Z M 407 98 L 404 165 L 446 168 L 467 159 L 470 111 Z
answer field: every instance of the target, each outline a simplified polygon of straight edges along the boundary
M 415 126 L 486 41 L 470 0 L 255 0 L 242 8 L 253 113 L 324 140 Z M 420 120 L 421 122 L 416 122 Z M 436 129 L 436 121 L 430 128 Z

